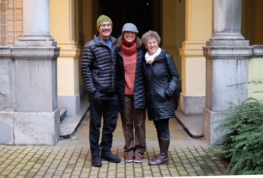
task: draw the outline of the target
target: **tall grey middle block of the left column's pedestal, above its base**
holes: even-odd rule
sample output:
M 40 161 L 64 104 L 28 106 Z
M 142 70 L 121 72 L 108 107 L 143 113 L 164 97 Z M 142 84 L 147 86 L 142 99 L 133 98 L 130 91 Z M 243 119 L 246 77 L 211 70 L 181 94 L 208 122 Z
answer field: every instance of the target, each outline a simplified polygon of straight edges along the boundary
M 56 60 L 16 60 L 17 112 L 52 112 L 57 108 Z

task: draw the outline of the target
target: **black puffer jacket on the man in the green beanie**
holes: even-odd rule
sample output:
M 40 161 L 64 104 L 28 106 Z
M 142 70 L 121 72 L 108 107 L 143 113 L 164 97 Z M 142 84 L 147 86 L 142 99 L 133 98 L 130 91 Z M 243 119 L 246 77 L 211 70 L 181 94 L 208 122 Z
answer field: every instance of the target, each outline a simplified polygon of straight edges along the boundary
M 116 38 L 110 36 L 112 51 L 99 34 L 83 47 L 80 73 L 85 92 L 89 95 L 98 91 L 117 91 Z

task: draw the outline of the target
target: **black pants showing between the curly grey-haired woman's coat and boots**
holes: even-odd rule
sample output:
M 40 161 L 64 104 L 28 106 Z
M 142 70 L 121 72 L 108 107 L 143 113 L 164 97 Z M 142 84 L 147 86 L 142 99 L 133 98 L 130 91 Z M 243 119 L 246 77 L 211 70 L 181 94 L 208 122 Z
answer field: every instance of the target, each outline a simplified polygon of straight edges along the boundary
M 161 138 L 170 140 L 169 118 L 159 119 L 157 121 L 154 120 L 153 123 L 157 131 L 157 136 L 161 136 Z

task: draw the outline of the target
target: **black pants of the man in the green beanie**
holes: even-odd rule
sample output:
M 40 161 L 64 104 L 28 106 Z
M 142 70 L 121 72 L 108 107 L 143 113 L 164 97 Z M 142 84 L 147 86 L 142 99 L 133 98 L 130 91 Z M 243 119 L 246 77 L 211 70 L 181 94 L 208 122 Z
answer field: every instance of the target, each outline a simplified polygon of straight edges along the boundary
M 103 127 L 101 143 L 101 117 Z M 99 155 L 101 149 L 111 151 L 112 133 L 116 129 L 118 119 L 118 97 L 116 92 L 97 91 L 90 100 L 90 151 L 91 155 Z

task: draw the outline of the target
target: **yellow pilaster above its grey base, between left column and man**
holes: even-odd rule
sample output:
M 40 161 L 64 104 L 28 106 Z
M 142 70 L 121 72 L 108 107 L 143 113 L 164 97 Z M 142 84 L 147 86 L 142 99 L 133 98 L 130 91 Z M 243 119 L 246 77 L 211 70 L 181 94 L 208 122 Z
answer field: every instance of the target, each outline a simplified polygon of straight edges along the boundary
M 58 64 L 58 95 L 79 94 L 80 48 L 75 42 L 78 21 L 75 20 L 77 5 L 74 0 L 50 0 L 50 34 L 61 47 Z

